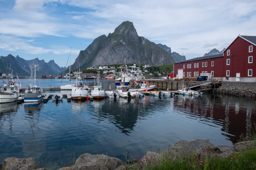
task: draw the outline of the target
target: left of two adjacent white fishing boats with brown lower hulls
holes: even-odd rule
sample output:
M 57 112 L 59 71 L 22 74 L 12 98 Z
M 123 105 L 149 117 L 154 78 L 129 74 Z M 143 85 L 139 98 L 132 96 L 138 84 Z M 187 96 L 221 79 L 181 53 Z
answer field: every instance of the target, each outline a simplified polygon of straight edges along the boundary
M 85 100 L 87 98 L 88 86 L 85 87 L 81 81 L 80 75 L 76 78 L 75 86 L 72 87 L 71 98 L 72 100 Z

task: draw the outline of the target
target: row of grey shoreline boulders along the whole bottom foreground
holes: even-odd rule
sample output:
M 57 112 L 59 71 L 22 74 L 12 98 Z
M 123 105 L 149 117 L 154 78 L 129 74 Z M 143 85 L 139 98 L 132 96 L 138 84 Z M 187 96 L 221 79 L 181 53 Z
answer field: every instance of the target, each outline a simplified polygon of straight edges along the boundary
M 201 140 L 194 139 L 190 141 L 180 140 L 175 145 L 161 153 L 156 152 L 147 152 L 147 154 L 142 157 L 140 161 L 135 161 L 130 165 L 122 162 L 120 159 L 109 157 L 107 155 L 91 155 L 89 153 L 82 154 L 75 161 L 75 165 L 69 167 L 63 167 L 58 170 L 131 170 L 131 169 L 143 169 L 145 165 L 155 164 L 159 160 L 169 157 L 171 159 L 177 159 L 184 155 L 194 154 L 194 155 L 203 155 L 203 154 L 217 154 L 220 157 L 226 157 L 230 153 L 246 151 L 249 149 L 255 148 L 254 141 L 244 141 L 235 143 L 234 146 L 227 145 L 218 145 L 214 146 L 210 143 L 209 139 Z M 0 164 L 0 170 L 50 170 L 47 168 L 40 168 L 37 165 L 32 157 L 26 159 L 18 159 L 15 157 L 7 158 L 3 163 Z

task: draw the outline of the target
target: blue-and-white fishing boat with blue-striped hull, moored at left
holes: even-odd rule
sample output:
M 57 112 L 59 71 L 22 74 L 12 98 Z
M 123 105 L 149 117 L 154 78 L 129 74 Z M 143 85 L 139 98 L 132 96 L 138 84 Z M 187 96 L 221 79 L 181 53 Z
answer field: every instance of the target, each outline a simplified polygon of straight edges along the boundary
M 34 72 L 33 67 L 35 67 Z M 36 67 L 37 65 L 31 66 L 31 76 L 25 88 L 24 102 L 38 102 L 42 100 L 43 90 L 36 77 Z

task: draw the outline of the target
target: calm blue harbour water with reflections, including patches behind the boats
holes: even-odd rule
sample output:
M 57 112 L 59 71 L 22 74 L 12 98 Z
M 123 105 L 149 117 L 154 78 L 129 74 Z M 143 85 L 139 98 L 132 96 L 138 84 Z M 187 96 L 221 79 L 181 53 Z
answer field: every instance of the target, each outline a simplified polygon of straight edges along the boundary
M 27 79 L 21 81 L 24 87 Z M 49 87 L 61 80 L 39 81 Z M 102 81 L 105 90 L 109 84 L 113 90 L 113 81 Z M 1 104 L 0 162 L 33 157 L 41 166 L 54 162 L 63 167 L 83 153 L 125 161 L 123 154 L 129 151 L 140 159 L 147 151 L 178 140 L 210 139 L 214 145 L 231 145 L 241 133 L 249 135 L 254 122 L 254 99 L 222 95 Z

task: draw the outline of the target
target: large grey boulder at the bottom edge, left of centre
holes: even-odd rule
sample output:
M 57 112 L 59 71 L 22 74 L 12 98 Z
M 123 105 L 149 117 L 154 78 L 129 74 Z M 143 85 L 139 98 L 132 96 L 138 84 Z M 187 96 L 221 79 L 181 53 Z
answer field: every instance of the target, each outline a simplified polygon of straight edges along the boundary
M 76 161 L 75 161 L 75 168 L 78 170 L 86 169 L 116 169 L 121 165 L 125 165 L 123 161 L 120 159 L 109 157 L 106 155 L 92 155 L 89 153 L 82 154 Z

